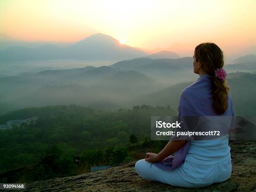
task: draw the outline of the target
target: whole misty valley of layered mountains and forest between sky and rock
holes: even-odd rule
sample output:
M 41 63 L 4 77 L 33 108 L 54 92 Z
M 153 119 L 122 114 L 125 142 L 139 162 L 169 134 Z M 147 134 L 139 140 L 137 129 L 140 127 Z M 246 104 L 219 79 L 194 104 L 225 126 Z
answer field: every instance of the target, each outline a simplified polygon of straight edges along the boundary
M 159 152 L 166 141 L 150 139 L 151 116 L 176 116 L 181 91 L 198 78 L 192 57 L 149 55 L 101 33 L 66 47 L 10 46 L 0 58 L 0 125 L 20 120 L 0 129 L 1 183 L 77 175 Z M 256 56 L 224 68 L 235 114 L 256 115 Z M 25 123 L 31 117 L 38 119 Z

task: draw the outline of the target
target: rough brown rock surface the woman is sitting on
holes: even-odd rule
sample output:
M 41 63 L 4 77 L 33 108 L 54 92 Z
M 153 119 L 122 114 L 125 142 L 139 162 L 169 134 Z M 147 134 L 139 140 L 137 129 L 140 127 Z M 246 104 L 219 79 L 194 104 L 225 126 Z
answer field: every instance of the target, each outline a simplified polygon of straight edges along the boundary
M 233 166 L 230 179 L 200 189 L 143 179 L 136 173 L 133 161 L 97 172 L 33 182 L 26 184 L 25 191 L 256 191 L 256 141 L 230 141 L 230 147 Z

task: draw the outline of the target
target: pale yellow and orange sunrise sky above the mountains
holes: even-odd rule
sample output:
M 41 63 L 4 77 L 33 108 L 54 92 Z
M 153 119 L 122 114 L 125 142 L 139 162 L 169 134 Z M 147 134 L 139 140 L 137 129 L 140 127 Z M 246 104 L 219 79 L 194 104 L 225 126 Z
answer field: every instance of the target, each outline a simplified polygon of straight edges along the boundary
M 147 50 L 228 53 L 256 45 L 256 0 L 0 0 L 0 33 L 26 41 L 82 40 L 104 33 Z

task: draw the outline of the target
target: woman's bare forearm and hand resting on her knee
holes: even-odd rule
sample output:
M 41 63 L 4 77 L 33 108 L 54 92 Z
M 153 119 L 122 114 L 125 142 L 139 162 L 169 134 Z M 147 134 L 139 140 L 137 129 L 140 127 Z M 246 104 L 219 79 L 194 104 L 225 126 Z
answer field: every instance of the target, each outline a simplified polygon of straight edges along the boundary
M 146 153 L 149 157 L 145 160 L 147 162 L 160 162 L 174 152 L 177 152 L 185 143 L 186 140 L 169 141 L 159 154 Z

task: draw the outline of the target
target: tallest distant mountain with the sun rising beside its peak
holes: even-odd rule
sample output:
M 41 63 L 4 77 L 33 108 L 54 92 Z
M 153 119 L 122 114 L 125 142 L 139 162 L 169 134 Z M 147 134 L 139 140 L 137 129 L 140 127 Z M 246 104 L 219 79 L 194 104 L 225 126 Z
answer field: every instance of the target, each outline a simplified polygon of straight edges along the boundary
M 54 59 L 123 60 L 145 56 L 141 50 L 120 44 L 109 35 L 97 33 L 65 48 L 44 45 L 39 48 L 10 47 L 0 51 L 2 62 Z

